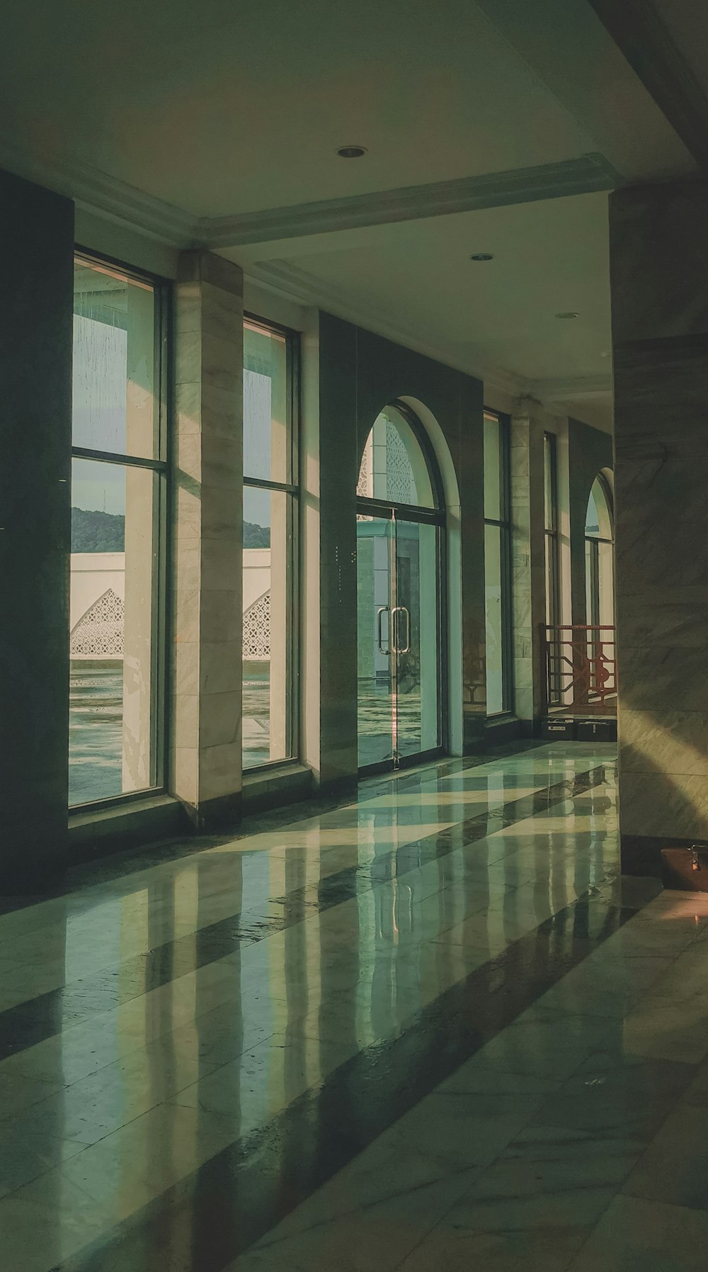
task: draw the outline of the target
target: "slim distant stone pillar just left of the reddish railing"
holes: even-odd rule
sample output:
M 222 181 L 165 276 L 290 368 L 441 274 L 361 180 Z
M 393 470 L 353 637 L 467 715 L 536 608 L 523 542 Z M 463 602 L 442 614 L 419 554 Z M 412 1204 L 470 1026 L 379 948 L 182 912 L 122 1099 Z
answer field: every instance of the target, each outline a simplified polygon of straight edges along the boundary
M 543 421 L 540 403 L 520 398 L 511 417 L 511 605 L 514 710 L 531 733 L 544 706 L 541 625 L 545 621 Z

